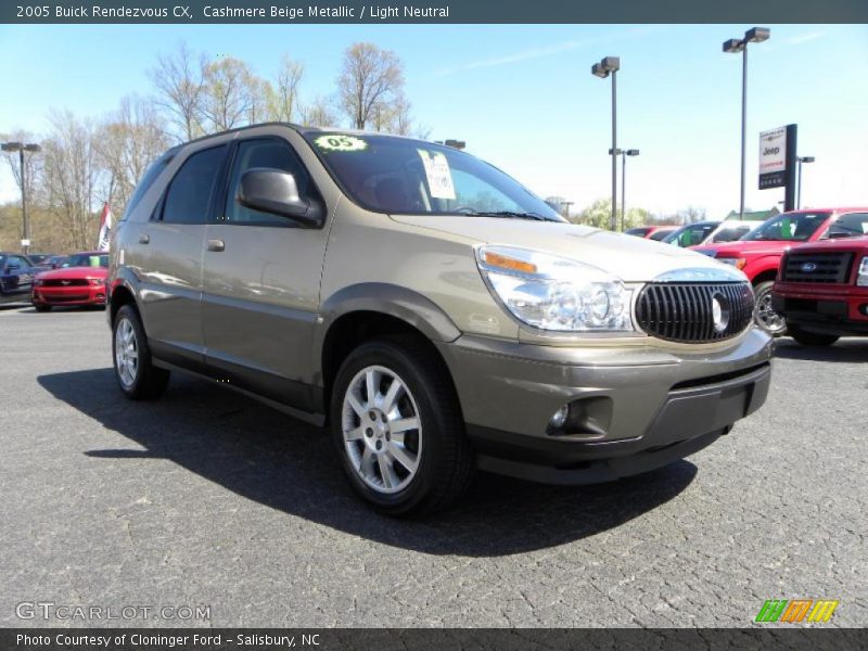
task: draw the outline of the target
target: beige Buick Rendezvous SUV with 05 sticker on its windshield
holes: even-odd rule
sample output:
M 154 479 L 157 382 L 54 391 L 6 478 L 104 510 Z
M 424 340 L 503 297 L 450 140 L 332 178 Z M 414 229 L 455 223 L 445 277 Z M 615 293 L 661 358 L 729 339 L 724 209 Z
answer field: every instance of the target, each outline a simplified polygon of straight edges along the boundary
M 604 482 L 690 455 L 757 409 L 769 337 L 741 272 L 565 222 L 450 148 L 291 125 L 169 150 L 112 245 L 130 398 L 199 373 L 328 424 L 391 514 L 476 467 Z

